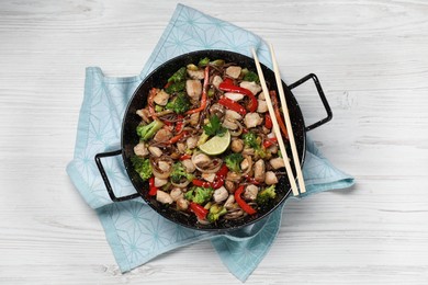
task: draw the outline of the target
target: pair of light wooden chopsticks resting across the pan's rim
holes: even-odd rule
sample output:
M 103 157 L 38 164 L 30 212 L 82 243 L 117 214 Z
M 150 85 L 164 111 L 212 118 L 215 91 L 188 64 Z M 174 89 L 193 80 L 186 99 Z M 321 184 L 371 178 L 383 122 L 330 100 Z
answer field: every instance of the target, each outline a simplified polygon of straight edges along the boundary
M 293 174 L 293 171 L 292 171 L 291 166 L 290 166 L 290 159 L 289 159 L 289 156 L 288 156 L 286 150 L 285 150 L 285 145 L 284 145 L 284 141 L 282 139 L 280 127 L 278 125 L 278 121 L 277 121 L 277 117 L 274 114 L 272 101 L 269 96 L 269 90 L 268 90 L 268 87 L 266 84 L 263 71 L 261 70 L 260 61 L 259 61 L 259 58 L 257 57 L 256 50 L 252 48 L 251 52 L 252 52 L 252 56 L 254 56 L 255 61 L 256 61 L 256 68 L 257 68 L 257 72 L 259 75 L 261 88 L 262 88 L 263 93 L 264 93 L 264 99 L 266 99 L 266 102 L 268 103 L 268 110 L 269 110 L 269 115 L 272 119 L 273 132 L 277 136 L 278 144 L 280 146 L 282 159 L 284 160 L 285 170 L 286 170 L 286 174 L 289 176 L 291 189 L 293 191 L 293 195 L 297 196 L 300 194 L 299 189 L 297 189 L 297 184 L 295 183 L 294 174 Z M 293 158 L 294 168 L 295 168 L 296 174 L 297 174 L 299 186 L 300 186 L 301 193 L 305 193 L 306 192 L 305 182 L 303 180 L 303 173 L 302 173 L 302 168 L 301 168 L 301 163 L 299 160 L 297 148 L 295 146 L 294 134 L 293 134 L 293 128 L 292 128 L 291 121 L 290 121 L 289 109 L 286 106 L 284 89 L 282 88 L 281 75 L 280 75 L 280 70 L 278 67 L 278 62 L 277 62 L 277 58 L 275 58 L 272 45 L 270 45 L 270 54 L 272 56 L 273 71 L 275 75 L 278 92 L 279 92 L 280 100 L 281 100 L 282 113 L 284 116 L 285 126 L 286 126 L 288 134 L 289 134 L 292 158 Z

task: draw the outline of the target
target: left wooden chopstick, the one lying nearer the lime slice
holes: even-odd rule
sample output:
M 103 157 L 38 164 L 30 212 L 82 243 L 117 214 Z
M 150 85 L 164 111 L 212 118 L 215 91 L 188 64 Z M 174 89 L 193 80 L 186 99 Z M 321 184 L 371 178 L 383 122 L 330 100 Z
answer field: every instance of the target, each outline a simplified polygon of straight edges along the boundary
M 256 50 L 252 48 L 251 52 L 252 52 L 252 56 L 254 56 L 255 61 L 256 61 L 256 68 L 257 68 L 257 73 L 259 75 L 261 89 L 263 90 L 264 99 L 266 99 L 266 102 L 268 104 L 268 111 L 269 111 L 270 117 L 272 119 L 273 132 L 277 136 L 278 145 L 280 146 L 282 159 L 283 159 L 284 164 L 285 164 L 286 175 L 289 176 L 289 181 L 291 184 L 291 189 L 293 191 L 293 195 L 297 196 L 299 195 L 297 184 L 295 183 L 293 170 L 291 169 L 291 166 L 290 166 L 290 160 L 289 160 L 289 156 L 288 156 L 286 150 L 285 150 L 284 141 L 282 139 L 280 126 L 278 125 L 278 122 L 275 118 L 275 114 L 274 114 L 273 106 L 272 106 L 272 101 L 270 100 L 270 96 L 269 96 L 269 90 L 268 90 L 268 87 L 266 84 L 263 71 L 261 70 L 260 61 L 259 61 L 259 58 L 257 57 Z

